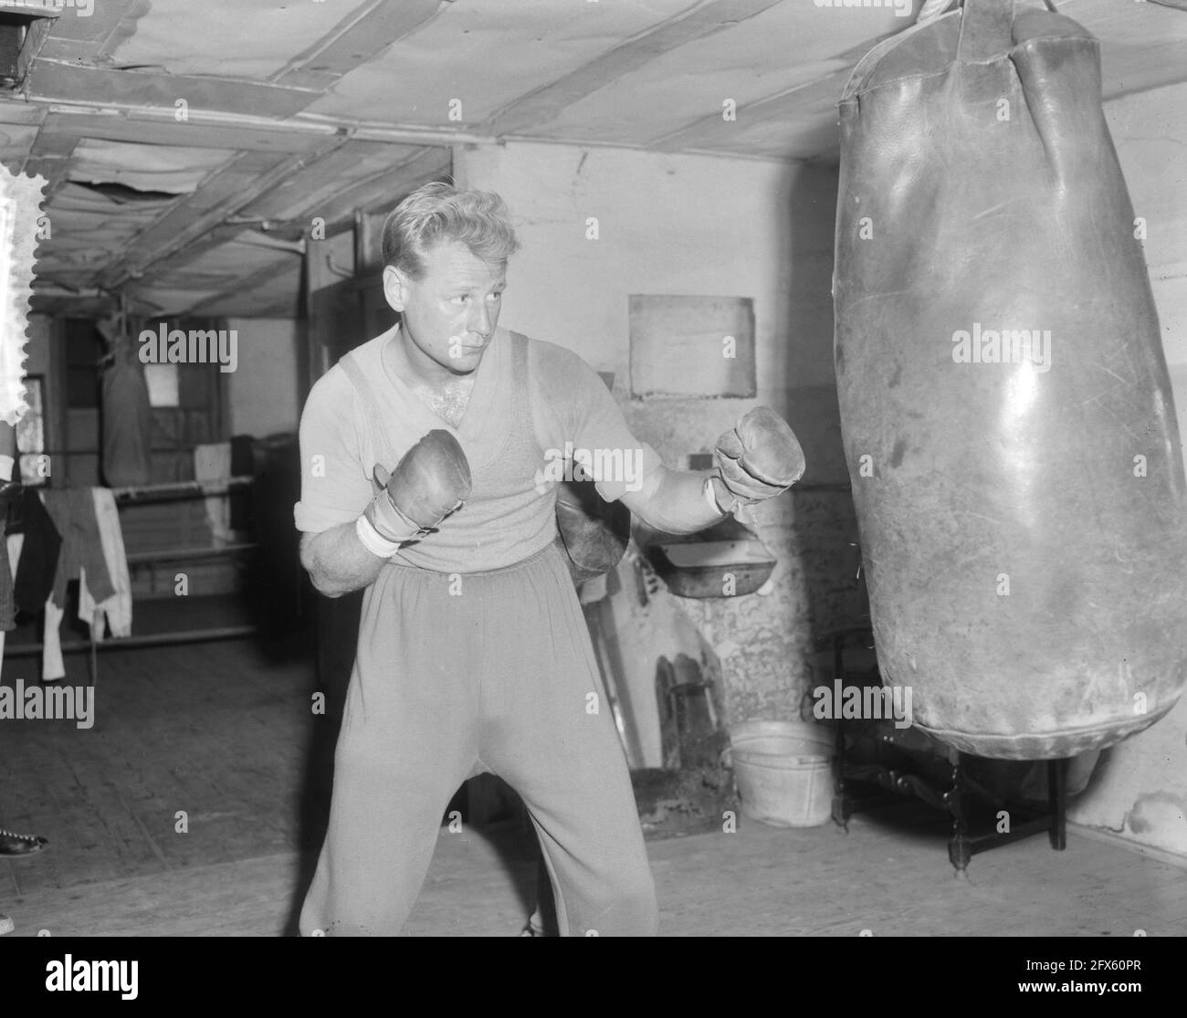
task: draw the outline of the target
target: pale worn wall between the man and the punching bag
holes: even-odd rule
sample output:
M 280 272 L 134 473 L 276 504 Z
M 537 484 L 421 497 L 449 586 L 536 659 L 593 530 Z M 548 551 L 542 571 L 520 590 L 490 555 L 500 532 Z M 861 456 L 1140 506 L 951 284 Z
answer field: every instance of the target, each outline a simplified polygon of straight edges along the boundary
M 796 717 L 813 636 L 865 610 L 849 494 L 814 488 L 848 483 L 832 368 L 836 171 L 508 144 L 458 147 L 455 174 L 499 191 L 516 221 L 502 324 L 614 371 L 627 420 L 669 466 L 711 450 L 755 403 L 791 421 L 808 471 L 760 510 L 779 556 L 773 591 L 679 604 L 722 660 L 729 720 Z M 630 399 L 630 294 L 751 298 L 757 400 Z

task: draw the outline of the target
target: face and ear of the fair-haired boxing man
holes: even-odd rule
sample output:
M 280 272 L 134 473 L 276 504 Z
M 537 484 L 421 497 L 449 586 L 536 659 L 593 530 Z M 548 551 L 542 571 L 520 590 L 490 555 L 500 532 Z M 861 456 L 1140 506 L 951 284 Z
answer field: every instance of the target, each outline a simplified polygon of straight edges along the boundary
M 400 329 L 415 348 L 410 356 L 421 367 L 431 368 L 427 358 L 455 375 L 469 375 L 482 363 L 499 324 L 507 268 L 488 265 L 456 241 L 433 244 L 424 262 L 419 280 L 385 268 L 383 294 L 402 316 Z

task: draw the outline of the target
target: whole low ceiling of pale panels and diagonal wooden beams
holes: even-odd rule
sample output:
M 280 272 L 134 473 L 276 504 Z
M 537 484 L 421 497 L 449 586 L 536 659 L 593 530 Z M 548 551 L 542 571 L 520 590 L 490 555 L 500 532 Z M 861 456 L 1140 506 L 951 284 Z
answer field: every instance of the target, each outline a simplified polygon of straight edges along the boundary
M 0 93 L 0 160 L 50 182 L 34 306 L 296 316 L 315 217 L 389 206 L 457 142 L 834 160 L 846 76 L 914 21 L 842 2 L 62 6 Z M 1106 97 L 1187 78 L 1176 6 L 1059 0 L 1102 40 Z

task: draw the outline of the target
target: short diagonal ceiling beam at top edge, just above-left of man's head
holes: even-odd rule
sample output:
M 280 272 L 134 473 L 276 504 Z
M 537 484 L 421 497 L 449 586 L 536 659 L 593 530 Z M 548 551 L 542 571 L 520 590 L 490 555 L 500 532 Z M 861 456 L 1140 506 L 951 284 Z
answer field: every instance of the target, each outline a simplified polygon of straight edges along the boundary
M 447 0 L 367 0 L 312 46 L 268 77 L 272 84 L 325 91 L 343 75 L 431 21 Z

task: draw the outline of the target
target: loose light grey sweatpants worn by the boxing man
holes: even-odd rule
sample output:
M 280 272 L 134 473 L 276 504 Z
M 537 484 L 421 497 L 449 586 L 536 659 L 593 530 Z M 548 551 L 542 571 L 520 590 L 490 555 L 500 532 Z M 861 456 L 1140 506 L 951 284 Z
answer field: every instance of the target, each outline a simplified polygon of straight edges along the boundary
M 554 543 L 480 573 L 389 564 L 367 591 L 300 933 L 399 934 L 451 796 L 484 771 L 527 807 L 561 935 L 655 934 L 630 776 Z

